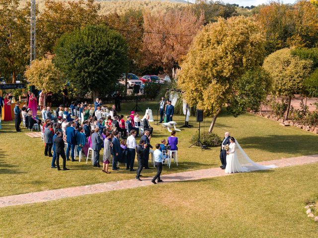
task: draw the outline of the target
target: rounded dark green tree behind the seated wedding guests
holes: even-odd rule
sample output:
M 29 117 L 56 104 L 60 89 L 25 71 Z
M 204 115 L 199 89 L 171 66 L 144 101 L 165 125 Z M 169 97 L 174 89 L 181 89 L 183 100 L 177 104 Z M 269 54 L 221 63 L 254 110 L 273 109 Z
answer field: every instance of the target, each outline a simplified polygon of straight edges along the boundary
M 81 93 L 110 93 L 126 72 L 127 44 L 105 26 L 86 26 L 64 34 L 55 48 L 54 63 Z

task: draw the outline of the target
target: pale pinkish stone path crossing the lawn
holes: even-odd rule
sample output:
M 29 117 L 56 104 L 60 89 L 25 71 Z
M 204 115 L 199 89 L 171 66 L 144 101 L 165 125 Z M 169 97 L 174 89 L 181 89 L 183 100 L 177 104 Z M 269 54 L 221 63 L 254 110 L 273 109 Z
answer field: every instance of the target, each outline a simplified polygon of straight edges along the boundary
M 280 159 L 280 160 L 263 161 L 263 162 L 260 162 L 259 164 L 276 165 L 277 168 L 282 168 L 282 167 L 304 165 L 304 164 L 317 163 L 317 162 L 318 162 L 318 155 L 311 155 L 311 156 L 301 156 L 301 157 L 287 158 L 287 159 Z M 221 170 L 220 168 L 212 168 L 212 169 L 196 170 L 196 171 L 163 175 L 161 176 L 161 179 L 164 182 L 178 182 L 178 181 L 185 181 L 185 180 L 207 179 L 207 178 L 227 176 L 227 175 L 229 174 L 225 174 L 224 170 Z M 142 179 L 143 181 L 130 179 L 130 180 L 98 183 L 98 184 L 92 184 L 92 185 L 86 185 L 86 186 L 68 187 L 68 188 L 61 188 L 61 189 L 55 189 L 55 190 L 5 196 L 5 197 L 0 197 L 0 207 L 15 206 L 15 205 L 22 205 L 22 204 L 36 203 L 36 202 L 47 202 L 47 201 L 57 200 L 61 198 L 107 192 L 112 190 L 121 190 L 126 188 L 143 187 L 143 186 L 149 186 L 153 184 L 151 182 L 152 178 L 150 177 L 148 178 L 142 177 Z M 159 186 L 159 184 L 156 184 L 156 186 Z

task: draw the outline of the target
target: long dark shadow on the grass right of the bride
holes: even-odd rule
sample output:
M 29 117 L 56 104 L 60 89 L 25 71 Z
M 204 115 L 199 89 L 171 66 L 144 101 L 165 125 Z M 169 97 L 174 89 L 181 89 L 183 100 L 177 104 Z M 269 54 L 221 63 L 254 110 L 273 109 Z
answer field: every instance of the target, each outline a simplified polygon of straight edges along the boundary
M 318 148 L 313 147 L 318 142 L 316 135 L 267 135 L 250 136 L 239 139 L 243 149 L 259 149 L 273 153 L 286 154 L 317 154 Z

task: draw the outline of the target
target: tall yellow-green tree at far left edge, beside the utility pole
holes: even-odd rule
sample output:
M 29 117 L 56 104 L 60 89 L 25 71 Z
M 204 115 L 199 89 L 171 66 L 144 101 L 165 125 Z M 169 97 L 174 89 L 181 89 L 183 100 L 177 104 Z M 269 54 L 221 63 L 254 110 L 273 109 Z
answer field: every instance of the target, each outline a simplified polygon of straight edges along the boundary
M 30 6 L 20 0 L 0 0 L 0 76 L 23 74 L 30 59 Z

